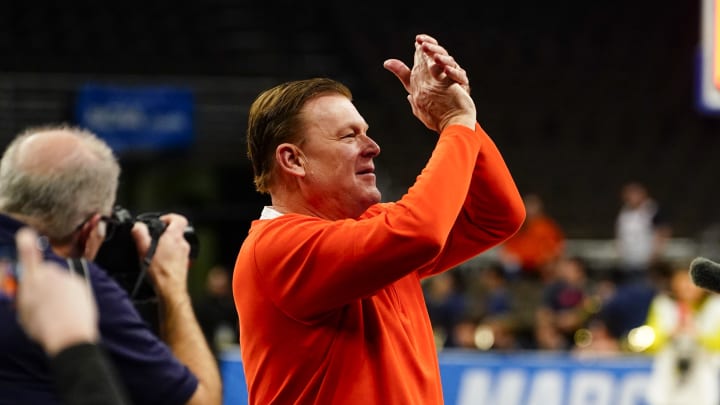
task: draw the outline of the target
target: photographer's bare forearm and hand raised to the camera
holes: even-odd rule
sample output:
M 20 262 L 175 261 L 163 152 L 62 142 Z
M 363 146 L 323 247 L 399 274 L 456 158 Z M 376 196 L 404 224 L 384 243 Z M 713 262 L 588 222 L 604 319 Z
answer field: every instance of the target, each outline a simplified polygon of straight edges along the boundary
M 158 240 L 148 273 L 160 299 L 161 337 L 198 378 L 198 388 L 188 403 L 220 404 L 222 385 L 217 361 L 195 318 L 187 290 L 190 244 L 184 232 L 188 221 L 177 214 L 160 219 L 167 227 Z M 147 226 L 138 222 L 132 233 L 140 257 L 145 257 L 151 242 Z

